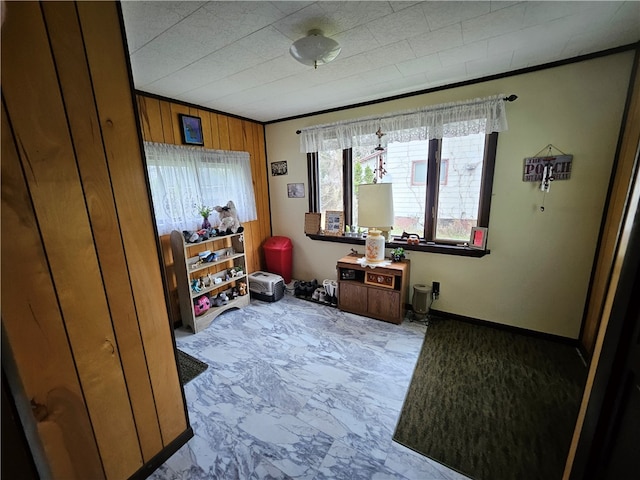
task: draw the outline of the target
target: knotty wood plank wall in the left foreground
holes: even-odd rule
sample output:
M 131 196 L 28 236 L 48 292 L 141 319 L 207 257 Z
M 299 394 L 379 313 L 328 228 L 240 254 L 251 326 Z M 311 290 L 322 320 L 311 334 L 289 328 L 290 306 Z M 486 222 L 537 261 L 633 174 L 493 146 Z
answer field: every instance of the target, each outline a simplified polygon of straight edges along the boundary
M 118 6 L 3 16 L 2 367 L 43 478 L 129 478 L 192 433 Z

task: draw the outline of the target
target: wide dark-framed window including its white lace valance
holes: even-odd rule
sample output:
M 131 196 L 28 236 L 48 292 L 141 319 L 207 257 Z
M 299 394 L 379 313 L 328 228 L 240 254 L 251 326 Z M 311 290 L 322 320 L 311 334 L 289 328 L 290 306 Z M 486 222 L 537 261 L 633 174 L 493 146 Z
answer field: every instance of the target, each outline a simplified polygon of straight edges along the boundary
M 381 181 L 394 186 L 392 234 L 468 242 L 473 227 L 488 226 L 498 132 L 507 130 L 505 102 L 516 98 L 494 95 L 301 129 L 310 211 L 322 212 L 329 200 L 319 194 L 330 191 L 333 209 L 342 197 L 337 210 L 357 225 L 358 186 L 384 171 Z

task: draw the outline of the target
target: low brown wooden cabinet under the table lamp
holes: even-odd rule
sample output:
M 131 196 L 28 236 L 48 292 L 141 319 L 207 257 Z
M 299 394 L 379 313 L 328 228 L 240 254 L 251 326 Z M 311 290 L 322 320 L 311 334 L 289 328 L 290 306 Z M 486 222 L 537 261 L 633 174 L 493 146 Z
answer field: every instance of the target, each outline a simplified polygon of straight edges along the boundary
M 338 260 L 338 308 L 391 323 L 402 323 L 409 288 L 409 261 L 371 268 L 360 257 Z

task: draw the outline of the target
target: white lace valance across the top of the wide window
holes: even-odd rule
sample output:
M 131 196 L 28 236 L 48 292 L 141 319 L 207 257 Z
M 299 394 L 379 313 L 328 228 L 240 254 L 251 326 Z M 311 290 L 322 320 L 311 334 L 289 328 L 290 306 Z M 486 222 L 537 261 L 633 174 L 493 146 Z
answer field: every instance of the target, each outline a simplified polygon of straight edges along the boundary
M 311 153 L 377 145 L 380 143 L 375 133 L 378 129 L 385 133 L 382 137 L 385 143 L 502 132 L 507 130 L 504 104 L 504 95 L 494 95 L 316 125 L 301 129 L 300 151 Z

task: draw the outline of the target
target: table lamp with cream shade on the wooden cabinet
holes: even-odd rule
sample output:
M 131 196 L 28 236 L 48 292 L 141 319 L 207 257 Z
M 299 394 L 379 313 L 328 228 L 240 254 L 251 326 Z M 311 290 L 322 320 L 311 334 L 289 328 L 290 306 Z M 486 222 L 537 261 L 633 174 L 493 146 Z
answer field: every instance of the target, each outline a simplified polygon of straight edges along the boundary
M 367 263 L 384 261 L 384 246 L 393 228 L 393 189 L 390 183 L 358 186 L 358 225 L 368 227 L 365 241 Z M 385 231 L 385 236 L 382 235 Z

